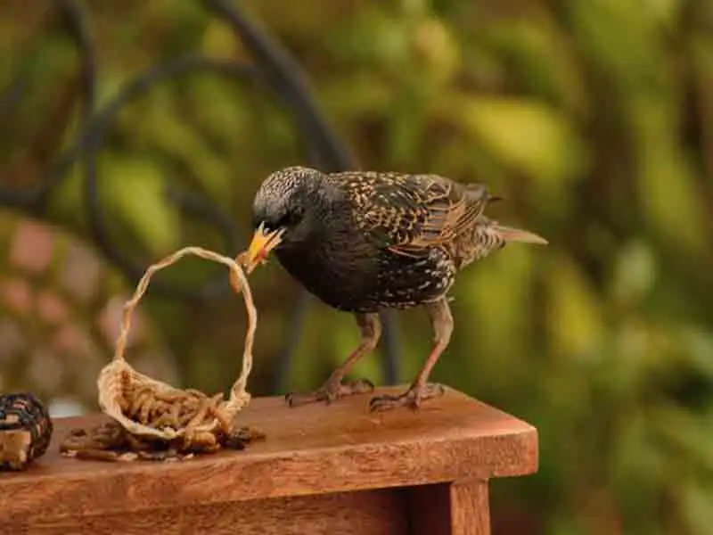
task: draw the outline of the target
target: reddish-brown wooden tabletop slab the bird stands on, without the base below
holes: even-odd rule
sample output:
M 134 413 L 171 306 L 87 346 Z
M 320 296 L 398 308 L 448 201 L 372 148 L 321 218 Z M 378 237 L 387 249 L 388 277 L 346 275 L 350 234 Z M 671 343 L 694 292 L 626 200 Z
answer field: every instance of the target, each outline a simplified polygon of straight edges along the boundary
M 45 457 L 26 472 L 0 473 L 2 516 L 121 513 L 537 471 L 535 428 L 463 393 L 447 390 L 418 413 L 370 414 L 369 399 L 298 408 L 283 398 L 253 399 L 238 424 L 266 440 L 173 463 L 61 457 L 57 444 L 68 430 L 98 419 L 57 419 Z

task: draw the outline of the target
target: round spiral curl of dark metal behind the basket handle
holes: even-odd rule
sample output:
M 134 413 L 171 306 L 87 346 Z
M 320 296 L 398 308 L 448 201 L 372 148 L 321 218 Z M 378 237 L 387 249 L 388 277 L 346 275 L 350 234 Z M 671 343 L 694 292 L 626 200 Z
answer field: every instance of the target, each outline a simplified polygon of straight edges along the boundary
M 155 83 L 165 81 L 168 78 L 184 76 L 197 70 L 209 70 L 230 78 L 256 78 L 256 72 L 250 65 L 213 60 L 201 55 L 191 54 L 178 58 L 177 60 L 155 65 L 122 86 L 121 89 L 119 89 L 119 94 L 116 95 L 110 103 L 107 103 L 102 110 L 95 113 L 94 118 L 84 130 L 78 144 L 74 148 L 74 151 L 82 154 L 84 159 L 84 193 L 90 222 L 89 228 L 94 243 L 107 259 L 110 259 L 113 264 L 118 266 L 119 269 L 132 280 L 138 280 L 143 275 L 145 266 L 143 262 L 138 262 L 130 258 L 111 242 L 109 229 L 102 217 L 102 208 L 99 202 L 99 185 L 96 169 L 97 154 L 102 147 L 103 140 L 111 126 L 112 119 L 125 104 L 143 95 L 143 93 Z M 192 211 L 194 214 L 200 213 L 205 216 L 210 211 L 205 206 L 207 201 L 198 201 L 196 198 L 192 201 L 187 201 L 189 198 L 188 193 L 178 195 L 174 191 L 172 197 L 179 205 L 183 205 L 184 208 Z M 201 207 L 200 209 L 198 208 L 199 206 Z M 237 252 L 239 235 L 233 220 L 223 215 L 217 206 L 211 208 L 211 210 L 216 212 L 212 217 L 213 221 L 220 221 L 219 226 L 221 228 L 225 230 L 226 227 L 231 227 L 231 230 L 225 233 L 226 247 L 229 251 Z M 225 276 L 217 276 L 215 279 L 205 283 L 197 292 L 192 289 L 182 288 L 176 284 L 167 284 L 161 280 L 157 280 L 153 284 L 153 289 L 155 292 L 164 294 L 170 293 L 184 299 L 206 299 L 219 293 L 227 292 L 228 286 L 225 284 Z

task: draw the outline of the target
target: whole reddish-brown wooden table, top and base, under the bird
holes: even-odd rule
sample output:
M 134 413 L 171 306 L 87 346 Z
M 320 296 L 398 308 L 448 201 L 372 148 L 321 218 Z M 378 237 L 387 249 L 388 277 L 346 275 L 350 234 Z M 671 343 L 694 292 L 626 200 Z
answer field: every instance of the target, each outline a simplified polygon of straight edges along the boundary
M 0 474 L 2 532 L 486 535 L 488 480 L 537 471 L 535 428 L 458 391 L 419 413 L 368 401 L 253 399 L 239 423 L 265 441 L 174 463 L 61 457 L 102 416 L 56 420 L 45 457 Z

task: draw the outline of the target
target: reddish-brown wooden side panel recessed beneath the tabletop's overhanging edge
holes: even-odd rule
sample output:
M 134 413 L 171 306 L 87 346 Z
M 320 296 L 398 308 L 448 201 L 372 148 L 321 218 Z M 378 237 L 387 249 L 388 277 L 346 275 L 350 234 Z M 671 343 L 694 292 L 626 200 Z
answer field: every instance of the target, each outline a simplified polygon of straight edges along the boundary
M 4 523 L 31 535 L 407 535 L 399 490 L 362 490 Z M 7 530 L 7 531 L 4 531 Z

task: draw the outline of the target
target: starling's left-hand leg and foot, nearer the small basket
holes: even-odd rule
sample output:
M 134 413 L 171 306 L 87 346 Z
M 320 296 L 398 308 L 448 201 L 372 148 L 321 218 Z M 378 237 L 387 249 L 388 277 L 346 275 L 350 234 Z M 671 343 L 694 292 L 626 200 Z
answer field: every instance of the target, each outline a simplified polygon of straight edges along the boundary
M 376 349 L 381 337 L 381 322 L 378 314 L 355 314 L 356 324 L 361 331 L 361 342 L 356 350 L 352 351 L 340 366 L 332 372 L 330 378 L 316 391 L 308 394 L 289 393 L 285 396 L 290 407 L 297 407 L 316 401 L 326 401 L 331 403 L 335 399 L 350 396 L 352 394 L 364 394 L 373 391 L 373 384 L 367 379 L 357 379 L 350 383 L 342 383 L 344 375 L 348 374 L 359 358 Z

